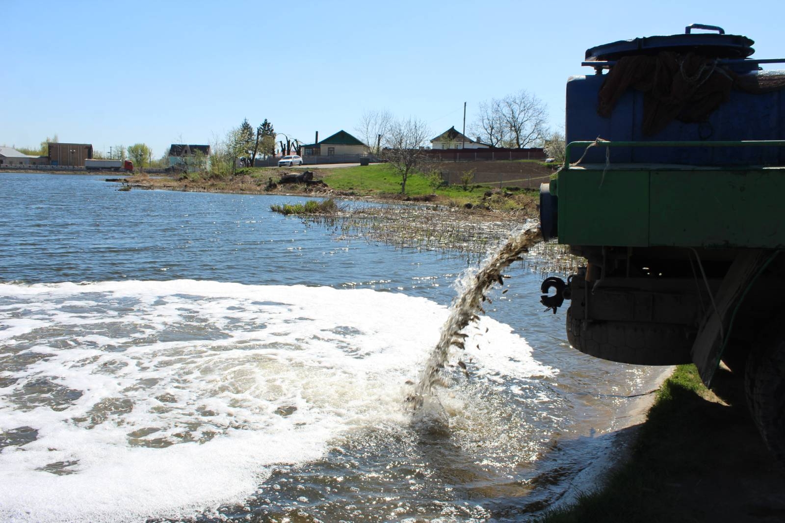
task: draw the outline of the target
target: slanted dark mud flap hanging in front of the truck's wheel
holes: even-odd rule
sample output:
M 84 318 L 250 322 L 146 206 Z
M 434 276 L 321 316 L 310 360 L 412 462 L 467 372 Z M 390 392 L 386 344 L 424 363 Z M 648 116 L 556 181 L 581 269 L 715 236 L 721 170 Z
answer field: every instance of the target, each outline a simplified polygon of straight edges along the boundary
M 710 305 L 706 316 L 700 324 L 700 330 L 692 345 L 692 362 L 696 364 L 700 379 L 710 386 L 714 372 L 720 364 L 720 357 L 725 345 L 725 335 L 733 310 L 736 309 L 750 281 L 769 258 L 770 251 L 763 249 L 744 249 L 736 255 L 736 259 L 725 274 L 720 284 L 714 305 Z M 716 306 L 716 309 L 715 309 Z

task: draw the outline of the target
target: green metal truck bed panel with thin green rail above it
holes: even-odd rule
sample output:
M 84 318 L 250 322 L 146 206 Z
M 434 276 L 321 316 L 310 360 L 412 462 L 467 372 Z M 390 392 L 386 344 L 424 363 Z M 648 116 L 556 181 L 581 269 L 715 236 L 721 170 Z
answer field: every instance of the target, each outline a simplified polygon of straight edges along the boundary
M 578 143 L 575 145 L 589 145 Z M 785 141 L 680 142 L 683 147 L 785 146 Z M 603 147 L 663 146 L 601 142 Z M 673 145 L 673 144 L 670 144 Z M 785 167 L 593 164 L 569 156 L 550 194 L 559 243 L 630 247 L 785 246 Z

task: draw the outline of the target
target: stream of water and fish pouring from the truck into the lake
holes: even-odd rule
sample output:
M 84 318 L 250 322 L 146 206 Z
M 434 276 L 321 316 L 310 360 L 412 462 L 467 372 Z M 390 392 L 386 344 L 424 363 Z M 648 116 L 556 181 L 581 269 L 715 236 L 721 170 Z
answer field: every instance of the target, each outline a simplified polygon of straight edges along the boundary
M 414 386 L 414 392 L 407 397 L 407 403 L 419 416 L 417 421 L 436 422 L 436 425 L 446 425 L 446 415 L 440 402 L 433 394 L 433 387 L 440 384 L 441 371 L 450 355 L 450 347 L 464 349 L 466 334 L 461 331 L 470 322 L 479 320 L 476 313 L 483 312 L 482 302 L 487 300 L 486 291 L 498 282 L 504 284 L 502 271 L 513 262 L 519 262 L 520 257 L 530 247 L 542 241 L 542 232 L 534 226 L 509 237 L 502 247 L 487 258 L 482 268 L 474 274 L 469 274 L 462 282 L 462 291 L 452 303 L 450 316 L 441 328 L 439 342 L 431 351 L 425 363 L 419 382 Z M 459 362 L 459 365 L 462 362 Z M 463 365 L 461 365 L 462 368 Z

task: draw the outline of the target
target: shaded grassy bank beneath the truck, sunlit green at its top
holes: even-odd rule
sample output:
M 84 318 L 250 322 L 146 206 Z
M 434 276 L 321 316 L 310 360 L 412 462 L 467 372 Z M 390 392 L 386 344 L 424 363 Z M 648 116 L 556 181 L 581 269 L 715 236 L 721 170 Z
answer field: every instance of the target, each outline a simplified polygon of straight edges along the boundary
M 783 521 L 785 480 L 747 414 L 742 380 L 725 370 L 715 383 L 707 390 L 694 365 L 678 367 L 630 459 L 601 490 L 540 523 Z

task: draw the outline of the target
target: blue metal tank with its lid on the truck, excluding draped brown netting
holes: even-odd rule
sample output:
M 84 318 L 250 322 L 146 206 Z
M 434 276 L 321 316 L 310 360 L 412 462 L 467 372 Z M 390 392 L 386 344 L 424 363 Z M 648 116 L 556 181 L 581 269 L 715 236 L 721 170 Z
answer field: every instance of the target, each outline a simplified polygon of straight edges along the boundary
M 725 39 L 719 41 L 717 38 Z M 725 50 L 720 46 L 723 42 L 727 44 Z M 586 57 L 593 62 L 610 63 L 609 67 L 612 68 L 612 60 L 624 56 L 654 54 L 663 49 L 695 53 L 710 49 L 711 56 L 720 59 L 720 64 L 722 60 L 727 60 L 728 65 L 725 67 L 732 68 L 739 74 L 739 79 L 751 79 L 750 75 L 780 75 L 782 83 L 785 83 L 785 71 L 758 71 L 758 64 L 754 60 L 744 60 L 754 52 L 752 43 L 749 38 L 738 35 L 671 35 L 597 46 L 586 51 Z M 736 60 L 735 63 L 733 60 Z M 645 95 L 641 91 L 627 89 L 619 97 L 610 117 L 604 118 L 597 114 L 598 95 L 607 78 L 608 75 L 588 75 L 574 76 L 568 80 L 565 121 L 568 143 L 593 141 L 597 137 L 610 141 L 785 140 L 785 90 L 752 94 L 734 89 L 728 101 L 711 112 L 705 121 L 683 123 L 673 120 L 659 132 L 644 136 Z M 571 161 L 578 159 L 582 153 L 582 148 L 574 149 Z M 610 148 L 610 160 L 612 163 L 777 165 L 785 164 L 785 148 Z M 591 148 L 583 162 L 604 163 L 605 148 Z

